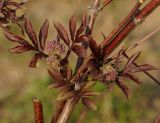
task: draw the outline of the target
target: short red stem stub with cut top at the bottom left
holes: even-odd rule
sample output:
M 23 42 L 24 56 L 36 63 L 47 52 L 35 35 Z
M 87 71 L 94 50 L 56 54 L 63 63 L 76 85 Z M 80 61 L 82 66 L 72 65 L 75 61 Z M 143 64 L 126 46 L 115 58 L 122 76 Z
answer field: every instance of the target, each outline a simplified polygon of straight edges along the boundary
M 41 101 L 33 97 L 35 123 L 43 123 L 43 107 Z

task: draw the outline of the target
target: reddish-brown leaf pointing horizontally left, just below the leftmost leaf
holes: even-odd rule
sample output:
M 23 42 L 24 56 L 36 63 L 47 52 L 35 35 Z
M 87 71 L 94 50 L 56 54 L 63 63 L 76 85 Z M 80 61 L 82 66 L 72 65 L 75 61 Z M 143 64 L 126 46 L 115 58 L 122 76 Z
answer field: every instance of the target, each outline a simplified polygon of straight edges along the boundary
M 30 47 L 26 47 L 24 45 L 18 45 L 14 48 L 11 48 L 9 51 L 11 53 L 23 53 L 23 52 L 30 51 L 30 50 L 32 50 Z

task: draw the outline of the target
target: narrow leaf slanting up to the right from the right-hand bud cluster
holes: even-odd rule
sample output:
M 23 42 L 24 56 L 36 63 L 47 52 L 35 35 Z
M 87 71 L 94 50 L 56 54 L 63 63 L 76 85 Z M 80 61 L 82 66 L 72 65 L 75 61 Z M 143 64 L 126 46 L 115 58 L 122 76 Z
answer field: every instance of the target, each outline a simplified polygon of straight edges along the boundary
M 124 68 L 124 73 L 126 73 L 127 71 L 130 70 L 130 67 L 131 67 L 132 64 L 135 62 L 135 60 L 137 60 L 137 58 L 140 56 L 140 54 L 141 54 L 141 51 L 133 54 L 133 55 L 129 58 L 129 60 L 128 60 L 125 68 Z

